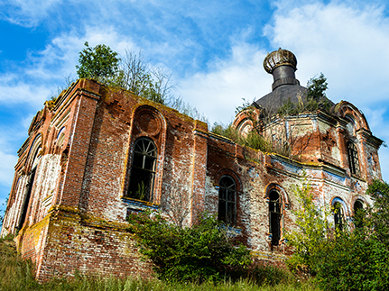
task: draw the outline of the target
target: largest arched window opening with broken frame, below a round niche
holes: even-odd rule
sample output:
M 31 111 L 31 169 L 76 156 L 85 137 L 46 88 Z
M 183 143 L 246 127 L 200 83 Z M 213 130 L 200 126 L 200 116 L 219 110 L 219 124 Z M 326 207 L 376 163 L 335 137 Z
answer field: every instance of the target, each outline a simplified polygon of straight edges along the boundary
M 128 197 L 149 202 L 153 201 L 156 160 L 157 148 L 153 141 L 146 138 L 135 141 Z

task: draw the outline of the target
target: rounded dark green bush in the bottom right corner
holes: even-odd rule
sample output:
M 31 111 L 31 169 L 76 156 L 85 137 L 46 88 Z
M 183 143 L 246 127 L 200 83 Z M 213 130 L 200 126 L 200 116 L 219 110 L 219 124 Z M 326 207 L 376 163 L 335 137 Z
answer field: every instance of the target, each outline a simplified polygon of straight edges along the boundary
M 389 252 L 366 228 L 338 232 L 321 251 L 317 280 L 329 290 L 388 290 Z

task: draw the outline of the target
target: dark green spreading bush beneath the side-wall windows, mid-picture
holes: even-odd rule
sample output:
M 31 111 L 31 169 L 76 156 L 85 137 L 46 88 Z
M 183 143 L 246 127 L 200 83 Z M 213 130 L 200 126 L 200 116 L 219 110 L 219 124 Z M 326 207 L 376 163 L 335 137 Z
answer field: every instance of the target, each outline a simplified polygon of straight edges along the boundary
M 198 224 L 180 228 L 160 213 L 144 212 L 131 214 L 129 223 L 140 251 L 153 261 L 158 277 L 167 281 L 219 281 L 251 263 L 249 250 L 235 247 L 214 216 L 202 214 Z

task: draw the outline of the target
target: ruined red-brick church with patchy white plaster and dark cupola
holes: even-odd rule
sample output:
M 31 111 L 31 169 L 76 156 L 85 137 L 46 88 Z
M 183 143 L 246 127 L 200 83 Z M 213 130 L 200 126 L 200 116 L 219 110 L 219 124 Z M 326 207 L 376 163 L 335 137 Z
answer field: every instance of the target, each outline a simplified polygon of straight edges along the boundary
M 288 50 L 268 54 L 264 68 L 273 75 L 272 92 L 237 114 L 233 126 L 242 135 L 255 128 L 288 154 L 241 146 L 165 105 L 79 79 L 32 120 L 2 235 L 15 235 L 42 280 L 75 270 L 148 276 L 127 215 L 162 209 L 190 225 L 208 211 L 258 258 L 282 259 L 282 233 L 295 227 L 292 210 L 299 207 L 293 185 L 304 173 L 318 205 L 338 207 L 331 221 L 351 223 L 371 204 L 368 183 L 381 179 L 383 141 L 346 101 L 277 114 L 285 102 L 304 102 L 307 88 L 295 78 L 297 60 Z

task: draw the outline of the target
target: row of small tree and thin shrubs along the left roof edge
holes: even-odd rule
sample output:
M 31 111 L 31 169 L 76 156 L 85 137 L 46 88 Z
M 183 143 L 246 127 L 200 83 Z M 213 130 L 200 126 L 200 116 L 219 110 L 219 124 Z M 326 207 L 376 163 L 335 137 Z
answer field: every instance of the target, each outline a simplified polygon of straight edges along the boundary
M 119 58 L 116 51 L 104 44 L 89 47 L 79 52 L 77 74 L 81 77 L 97 79 L 108 86 L 122 87 L 153 102 L 168 105 L 182 114 L 208 122 L 204 114 L 175 97 L 172 93 L 175 86 L 171 84 L 171 73 L 165 68 L 152 66 L 144 58 L 142 51 L 125 51 L 125 57 Z M 69 77 L 67 84 L 69 84 Z M 71 83 L 71 82 L 70 82 Z

